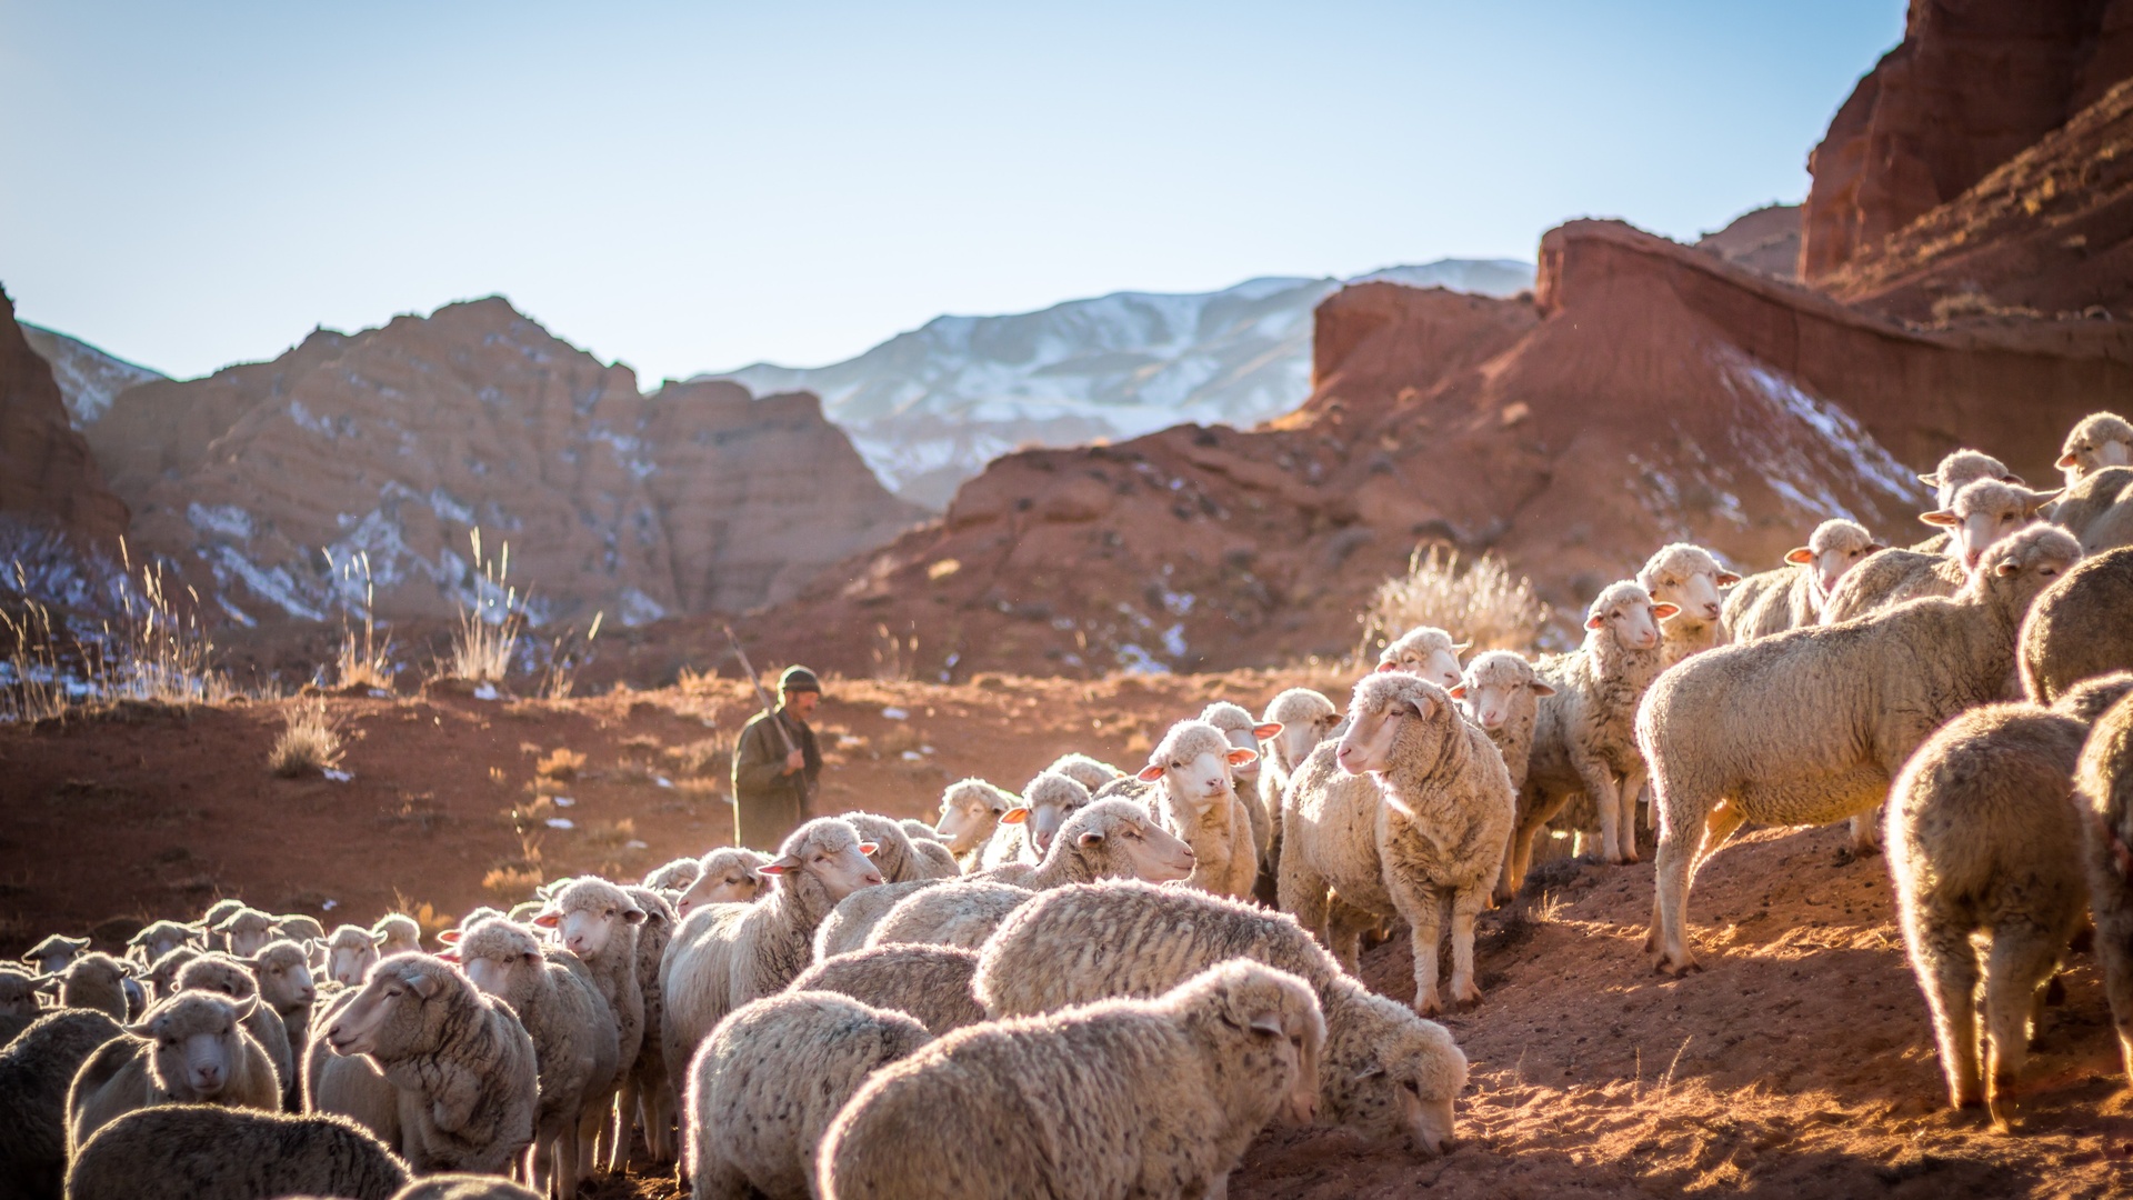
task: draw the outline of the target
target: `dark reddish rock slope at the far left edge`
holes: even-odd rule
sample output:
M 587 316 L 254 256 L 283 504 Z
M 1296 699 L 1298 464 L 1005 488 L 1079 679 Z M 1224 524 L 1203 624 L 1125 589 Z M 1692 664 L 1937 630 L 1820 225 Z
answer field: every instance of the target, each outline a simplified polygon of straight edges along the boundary
M 15 325 L 0 290 L 0 523 L 66 534 L 79 549 L 115 547 L 126 504 L 105 485 L 66 419 L 51 365 Z

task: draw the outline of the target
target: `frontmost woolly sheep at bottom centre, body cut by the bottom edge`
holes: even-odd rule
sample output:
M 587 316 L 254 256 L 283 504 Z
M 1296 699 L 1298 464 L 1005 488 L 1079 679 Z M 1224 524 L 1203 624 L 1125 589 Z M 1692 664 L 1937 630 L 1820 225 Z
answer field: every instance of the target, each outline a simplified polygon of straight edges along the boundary
M 1224 1196 L 1269 1121 L 1316 1115 L 1322 1046 L 1310 984 L 1263 963 L 960 1029 L 836 1115 L 821 1194 Z

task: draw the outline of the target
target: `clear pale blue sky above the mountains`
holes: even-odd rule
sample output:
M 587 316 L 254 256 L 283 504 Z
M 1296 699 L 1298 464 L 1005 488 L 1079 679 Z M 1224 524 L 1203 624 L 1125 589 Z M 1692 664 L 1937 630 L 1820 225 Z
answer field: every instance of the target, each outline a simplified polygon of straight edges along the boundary
M 665 376 L 943 312 L 1694 239 L 1903 0 L 0 0 L 0 286 L 173 376 L 506 295 Z

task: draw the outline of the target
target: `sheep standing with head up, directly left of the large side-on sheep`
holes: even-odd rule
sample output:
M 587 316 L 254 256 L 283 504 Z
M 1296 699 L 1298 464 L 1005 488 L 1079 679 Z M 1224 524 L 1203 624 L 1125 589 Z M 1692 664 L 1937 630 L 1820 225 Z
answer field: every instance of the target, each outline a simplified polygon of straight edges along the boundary
M 1519 822 L 1495 890 L 1499 901 L 1525 886 L 1534 835 L 1578 792 L 1591 799 L 1600 820 L 1600 854 L 1608 863 L 1636 863 L 1645 758 L 1632 726 L 1638 700 L 1662 668 L 1659 621 L 1674 613 L 1634 581 L 1610 583 L 1585 609 L 1585 645 L 1540 660 L 1540 679 L 1555 694 L 1544 696 L 1534 715 Z

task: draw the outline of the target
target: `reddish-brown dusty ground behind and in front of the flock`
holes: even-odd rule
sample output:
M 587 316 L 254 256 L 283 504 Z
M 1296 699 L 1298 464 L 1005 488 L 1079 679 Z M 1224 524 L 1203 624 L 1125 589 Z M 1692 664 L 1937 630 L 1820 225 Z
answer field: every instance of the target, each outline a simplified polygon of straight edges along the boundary
M 953 777 L 1017 786 L 1064 749 L 1137 760 L 1169 720 L 1214 696 L 1256 709 L 1303 681 L 1331 683 L 1301 673 L 838 681 L 819 722 L 832 747 L 825 805 L 921 816 Z M 535 869 L 640 873 L 725 841 L 721 754 L 751 711 L 734 681 L 557 705 L 326 698 L 354 775 L 337 784 L 267 775 L 294 702 L 0 728 L 0 952 L 49 931 L 124 937 L 220 895 L 328 925 L 392 903 L 427 903 L 444 920 Z M 548 828 L 552 816 L 574 828 Z M 1517 907 L 1485 918 L 1487 999 L 1448 1021 L 1474 1061 L 1465 1144 L 1412 1162 L 1333 1132 L 1278 1132 L 1254 1147 L 1233 1196 L 2133 1187 L 2133 1104 L 2095 959 L 2069 959 L 2067 999 L 2048 1010 L 2024 1132 L 1994 1134 L 1945 1108 L 1888 869 L 1841 863 L 1841 831 L 1762 831 L 1721 852 L 1691 910 L 1706 969 L 1679 982 L 1645 965 L 1649 867 L 1544 865 Z M 488 890 L 493 871 L 516 878 Z M 1404 937 L 1372 950 L 1365 976 L 1410 997 Z M 651 1177 L 602 1189 L 674 1194 Z

